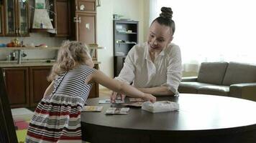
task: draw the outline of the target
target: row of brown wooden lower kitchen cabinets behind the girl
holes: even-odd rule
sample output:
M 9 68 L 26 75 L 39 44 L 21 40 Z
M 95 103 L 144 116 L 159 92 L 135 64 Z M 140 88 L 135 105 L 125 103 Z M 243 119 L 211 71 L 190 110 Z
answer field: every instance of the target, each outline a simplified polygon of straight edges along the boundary
M 12 108 L 28 107 L 34 109 L 42 99 L 50 82 L 47 76 L 52 66 L 6 67 L 4 80 L 6 92 Z M 99 65 L 95 64 L 95 69 Z M 99 84 L 93 84 L 88 98 L 99 97 Z

